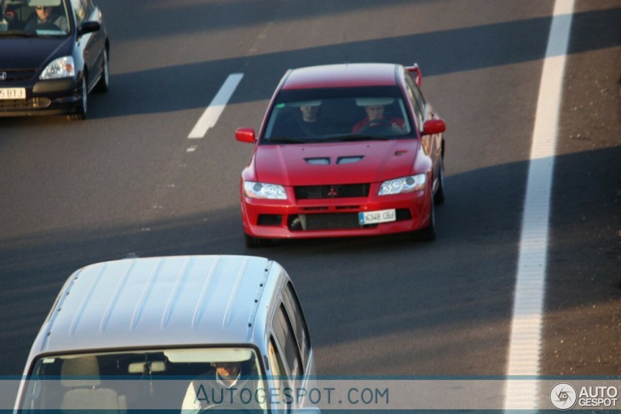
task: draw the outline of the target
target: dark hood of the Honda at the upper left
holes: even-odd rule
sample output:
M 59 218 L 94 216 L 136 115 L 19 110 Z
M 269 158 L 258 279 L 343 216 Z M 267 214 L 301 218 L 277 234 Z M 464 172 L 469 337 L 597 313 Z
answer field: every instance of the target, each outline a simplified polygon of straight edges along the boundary
M 0 68 L 34 69 L 50 63 L 55 57 L 71 54 L 71 36 L 1 37 Z

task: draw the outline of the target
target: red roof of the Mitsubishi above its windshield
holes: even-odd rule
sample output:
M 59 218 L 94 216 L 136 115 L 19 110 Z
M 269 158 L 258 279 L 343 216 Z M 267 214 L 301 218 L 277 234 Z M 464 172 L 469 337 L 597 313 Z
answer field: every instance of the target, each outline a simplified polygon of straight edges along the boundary
M 397 67 L 392 63 L 343 63 L 298 68 L 288 73 L 283 89 L 396 85 Z

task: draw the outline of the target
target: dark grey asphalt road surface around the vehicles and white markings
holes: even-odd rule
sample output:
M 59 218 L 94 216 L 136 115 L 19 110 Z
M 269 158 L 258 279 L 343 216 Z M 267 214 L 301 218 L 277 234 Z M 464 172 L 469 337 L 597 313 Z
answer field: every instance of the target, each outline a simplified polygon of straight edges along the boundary
M 99 0 L 111 89 L 90 119 L 0 119 L 0 374 L 21 374 L 55 295 L 97 261 L 259 254 L 288 269 L 317 371 L 504 375 L 553 1 Z M 578 0 L 550 215 L 542 374 L 621 374 L 620 0 Z M 438 238 L 246 250 L 238 180 L 288 68 L 419 63 L 446 120 Z M 188 134 L 231 73 L 217 124 Z

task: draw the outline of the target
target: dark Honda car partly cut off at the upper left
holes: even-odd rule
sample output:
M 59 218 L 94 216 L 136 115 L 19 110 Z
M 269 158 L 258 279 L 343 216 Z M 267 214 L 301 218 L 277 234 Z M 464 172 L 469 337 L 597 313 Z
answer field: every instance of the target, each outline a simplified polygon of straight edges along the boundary
M 0 117 L 70 114 L 109 87 L 110 43 L 91 0 L 0 0 Z

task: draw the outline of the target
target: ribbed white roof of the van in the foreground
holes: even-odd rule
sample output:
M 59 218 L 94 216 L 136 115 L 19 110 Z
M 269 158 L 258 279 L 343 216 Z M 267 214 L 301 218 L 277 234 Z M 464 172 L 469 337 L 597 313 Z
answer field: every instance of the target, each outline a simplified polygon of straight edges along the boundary
M 253 256 L 135 258 L 72 274 L 43 324 L 40 353 L 252 343 L 282 268 Z M 265 318 L 266 312 L 261 312 Z

